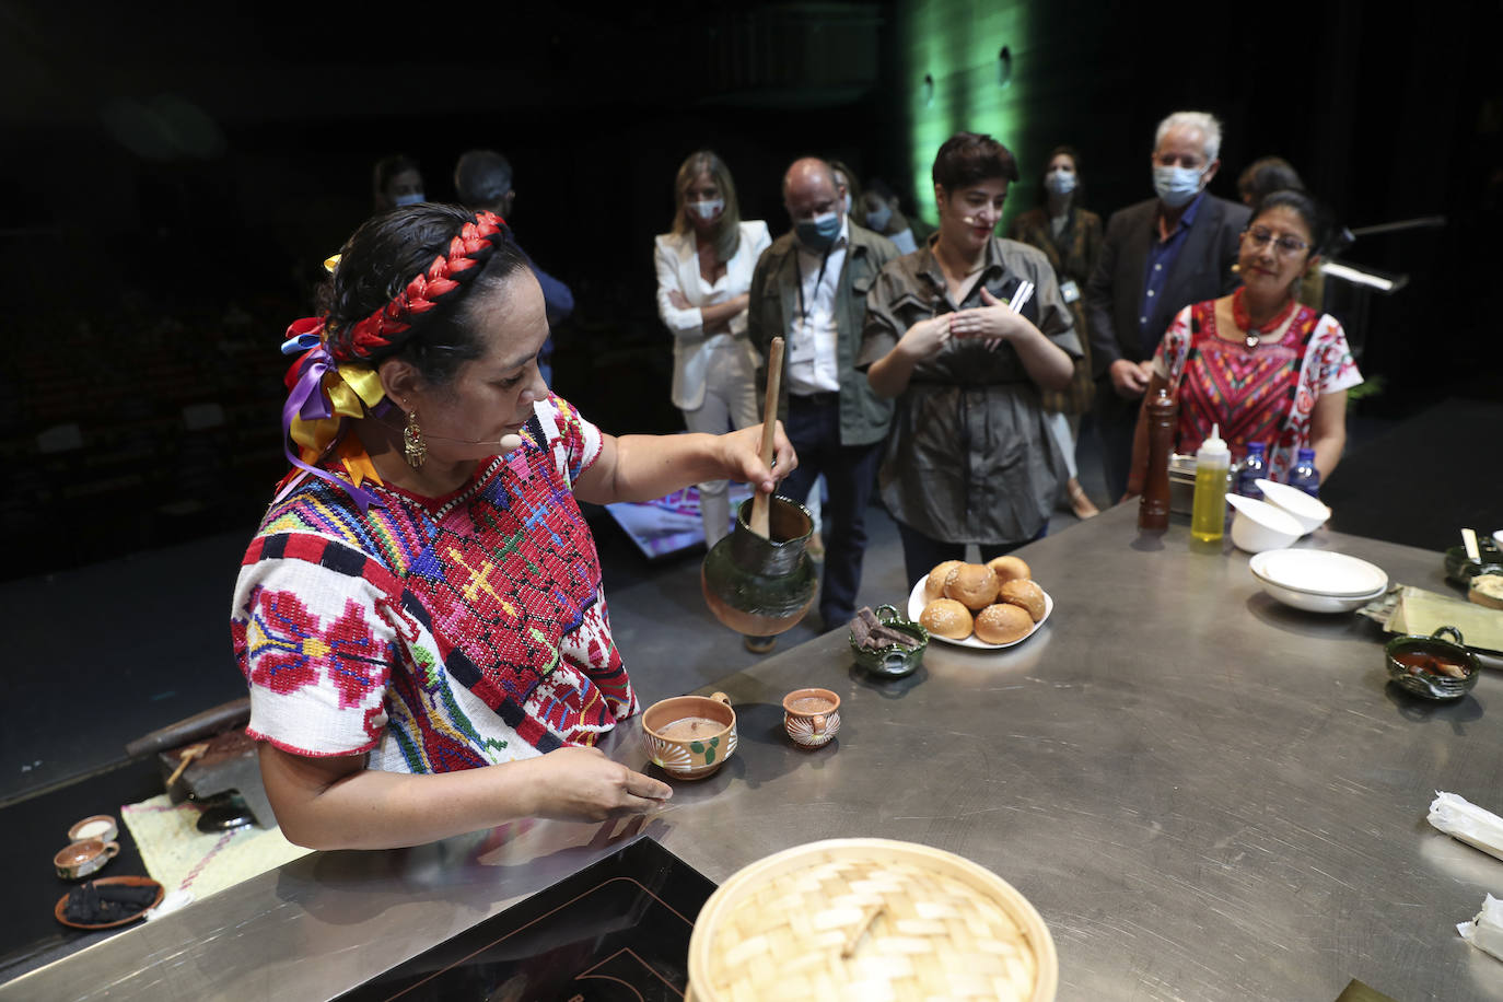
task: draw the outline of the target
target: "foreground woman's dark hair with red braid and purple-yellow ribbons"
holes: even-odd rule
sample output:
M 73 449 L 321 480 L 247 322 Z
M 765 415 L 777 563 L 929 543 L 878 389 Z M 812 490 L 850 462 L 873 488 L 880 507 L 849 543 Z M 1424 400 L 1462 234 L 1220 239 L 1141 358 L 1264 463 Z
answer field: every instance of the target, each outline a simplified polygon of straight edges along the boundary
M 431 383 L 452 380 L 484 353 L 463 308 L 469 291 L 494 288 L 525 266 L 505 221 L 490 212 L 421 204 L 361 225 L 340 252 L 326 315 L 287 327 L 283 355 L 298 358 L 284 380 L 283 449 L 295 469 L 277 500 L 311 475 L 347 491 L 361 511 L 379 505 L 361 484 L 380 476 L 349 434 L 350 419 L 391 407 L 377 367 L 403 358 Z M 325 460 L 338 460 L 347 479 L 322 469 Z

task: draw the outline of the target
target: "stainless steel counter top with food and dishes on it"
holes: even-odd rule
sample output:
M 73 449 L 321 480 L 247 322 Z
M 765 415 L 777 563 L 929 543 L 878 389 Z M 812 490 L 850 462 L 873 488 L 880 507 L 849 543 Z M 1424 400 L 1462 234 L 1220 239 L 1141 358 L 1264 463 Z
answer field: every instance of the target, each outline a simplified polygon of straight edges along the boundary
M 1443 589 L 1438 554 L 1321 532 L 1309 545 Z M 1503 808 L 1503 694 L 1387 687 L 1378 629 L 1267 599 L 1241 553 L 1120 508 L 1021 551 L 1055 610 L 1027 643 L 935 643 L 873 682 L 827 634 L 715 688 L 741 747 L 676 784 L 646 832 L 714 880 L 816 838 L 965 855 L 1039 907 L 1061 999 L 1503 999 L 1455 933 L 1503 862 L 1425 822 L 1434 790 Z M 896 596 L 894 596 L 896 598 Z M 649 672 L 651 667 L 639 667 Z M 794 751 L 782 696 L 840 693 L 836 745 Z M 640 763 L 633 729 L 609 742 Z M 0 985 L 0 999 L 325 999 L 612 849 L 627 825 L 531 823 L 379 853 L 316 853 Z

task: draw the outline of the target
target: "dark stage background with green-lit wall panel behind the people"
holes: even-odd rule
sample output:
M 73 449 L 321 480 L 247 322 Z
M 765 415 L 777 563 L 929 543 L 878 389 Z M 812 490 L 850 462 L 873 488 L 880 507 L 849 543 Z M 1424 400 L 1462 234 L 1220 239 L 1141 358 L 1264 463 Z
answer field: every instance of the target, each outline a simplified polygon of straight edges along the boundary
M 1360 409 L 1495 397 L 1500 27 L 1495 2 L 1402 18 L 1354 0 L 0 3 L 0 572 L 249 535 L 283 472 L 283 329 L 394 152 L 433 200 L 460 152 L 511 158 L 517 237 L 579 302 L 556 388 L 609 431 L 681 427 L 651 246 L 688 152 L 720 152 L 774 234 L 782 171 L 809 152 L 885 176 L 932 219 L 914 165 L 953 120 L 1018 152 L 1010 212 L 1067 141 L 1105 215 L 1151 194 L 1153 126 L 1175 108 L 1226 123 L 1216 194 L 1279 153 L 1348 225 L 1444 215 L 1347 255 L 1411 278 L 1353 330 L 1383 377 Z

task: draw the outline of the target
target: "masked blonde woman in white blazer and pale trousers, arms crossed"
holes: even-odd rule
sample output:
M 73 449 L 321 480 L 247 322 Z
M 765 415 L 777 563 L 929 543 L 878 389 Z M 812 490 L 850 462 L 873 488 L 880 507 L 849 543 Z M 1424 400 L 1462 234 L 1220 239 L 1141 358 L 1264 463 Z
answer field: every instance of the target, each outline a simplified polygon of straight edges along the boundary
M 673 192 L 673 231 L 655 248 L 658 315 L 673 335 L 673 406 L 690 431 L 745 428 L 759 421 L 747 288 L 773 239 L 761 219 L 741 221 L 730 171 L 709 150 L 684 161 Z M 726 481 L 699 485 L 705 545 L 729 532 L 726 488 Z

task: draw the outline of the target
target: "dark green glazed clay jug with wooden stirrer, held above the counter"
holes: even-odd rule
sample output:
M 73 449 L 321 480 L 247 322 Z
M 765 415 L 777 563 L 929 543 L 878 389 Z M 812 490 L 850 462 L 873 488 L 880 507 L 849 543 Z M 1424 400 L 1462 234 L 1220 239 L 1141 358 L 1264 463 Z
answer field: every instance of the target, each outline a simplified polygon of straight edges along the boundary
M 715 619 L 748 637 L 792 629 L 815 601 L 813 560 L 804 551 L 815 523 L 809 511 L 774 496 L 770 539 L 752 532 L 752 502 L 741 503 L 736 527 L 705 554 L 699 583 Z

